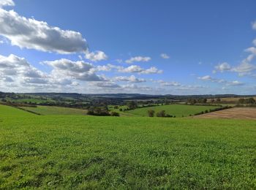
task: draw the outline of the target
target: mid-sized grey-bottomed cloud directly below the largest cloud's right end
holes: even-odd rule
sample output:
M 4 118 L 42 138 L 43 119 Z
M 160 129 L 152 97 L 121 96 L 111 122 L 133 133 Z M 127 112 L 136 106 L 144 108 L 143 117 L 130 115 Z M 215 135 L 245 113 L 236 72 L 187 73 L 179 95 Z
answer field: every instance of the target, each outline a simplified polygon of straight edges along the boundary
M 42 64 L 48 64 L 53 67 L 52 75 L 54 76 L 69 76 L 77 80 L 86 81 L 102 81 L 105 78 L 96 75 L 97 69 L 90 63 L 83 61 L 71 61 L 66 58 L 61 58 L 55 61 L 43 61 Z

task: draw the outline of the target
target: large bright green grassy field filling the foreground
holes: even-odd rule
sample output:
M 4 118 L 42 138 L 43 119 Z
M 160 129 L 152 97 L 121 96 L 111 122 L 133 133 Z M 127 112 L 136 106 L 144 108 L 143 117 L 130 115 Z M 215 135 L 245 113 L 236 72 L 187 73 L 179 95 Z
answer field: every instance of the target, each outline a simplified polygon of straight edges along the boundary
M 41 116 L 0 105 L 0 189 L 23 188 L 255 189 L 256 121 Z

